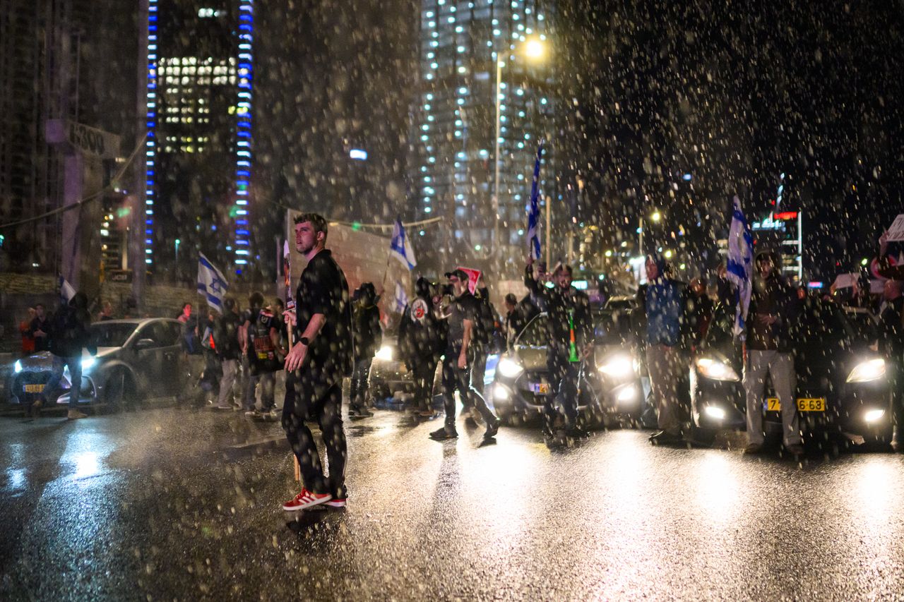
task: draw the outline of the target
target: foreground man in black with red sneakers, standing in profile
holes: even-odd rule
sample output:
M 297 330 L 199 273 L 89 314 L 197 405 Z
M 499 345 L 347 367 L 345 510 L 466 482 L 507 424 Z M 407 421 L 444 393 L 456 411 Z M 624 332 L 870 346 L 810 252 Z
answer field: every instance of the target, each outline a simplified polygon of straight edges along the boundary
M 307 266 L 296 289 L 296 312 L 286 313 L 297 333 L 297 343 L 286 356 L 287 396 L 282 425 L 298 459 L 304 487 L 283 504 L 287 511 L 325 503 L 344 508 L 345 432 L 342 423 L 342 381 L 352 374 L 352 304 L 342 268 L 325 249 L 326 221 L 316 213 L 295 219 L 295 247 Z M 305 420 L 320 424 L 329 458 L 324 475 L 320 454 Z

